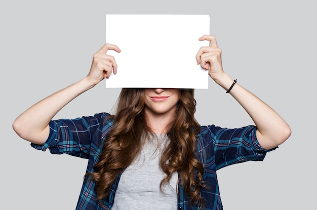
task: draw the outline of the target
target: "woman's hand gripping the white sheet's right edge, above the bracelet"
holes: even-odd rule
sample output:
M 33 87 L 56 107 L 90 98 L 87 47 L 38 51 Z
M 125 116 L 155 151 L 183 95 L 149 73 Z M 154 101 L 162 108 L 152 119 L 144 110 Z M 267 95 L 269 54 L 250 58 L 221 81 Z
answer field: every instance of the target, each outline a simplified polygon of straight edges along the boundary
M 211 78 L 216 80 L 224 73 L 222 69 L 221 49 L 218 48 L 216 37 L 213 35 L 203 35 L 199 40 L 210 41 L 210 46 L 201 47 L 197 52 L 197 64 L 201 64 L 205 70 L 208 70 Z

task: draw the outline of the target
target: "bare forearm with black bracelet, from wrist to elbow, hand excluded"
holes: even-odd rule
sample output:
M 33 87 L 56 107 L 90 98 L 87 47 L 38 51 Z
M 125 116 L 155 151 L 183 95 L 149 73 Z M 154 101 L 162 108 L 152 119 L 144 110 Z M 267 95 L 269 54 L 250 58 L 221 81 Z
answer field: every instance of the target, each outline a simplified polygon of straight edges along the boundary
M 224 73 L 215 81 L 227 91 L 232 85 L 233 79 Z M 264 149 L 274 148 L 289 138 L 291 129 L 285 120 L 266 103 L 239 85 L 238 82 L 235 83 L 229 94 L 242 105 L 253 119 L 257 127 L 257 139 Z

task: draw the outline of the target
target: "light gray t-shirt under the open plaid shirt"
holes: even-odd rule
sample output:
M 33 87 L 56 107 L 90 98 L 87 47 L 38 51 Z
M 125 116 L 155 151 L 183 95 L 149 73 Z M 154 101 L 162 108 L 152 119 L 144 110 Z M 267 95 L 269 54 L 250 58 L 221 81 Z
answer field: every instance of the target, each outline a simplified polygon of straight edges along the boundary
M 146 139 L 139 156 L 124 171 L 111 210 L 119 209 L 177 209 L 178 175 L 160 190 L 166 174 L 160 169 L 161 153 L 168 143 L 166 135 L 156 134 Z

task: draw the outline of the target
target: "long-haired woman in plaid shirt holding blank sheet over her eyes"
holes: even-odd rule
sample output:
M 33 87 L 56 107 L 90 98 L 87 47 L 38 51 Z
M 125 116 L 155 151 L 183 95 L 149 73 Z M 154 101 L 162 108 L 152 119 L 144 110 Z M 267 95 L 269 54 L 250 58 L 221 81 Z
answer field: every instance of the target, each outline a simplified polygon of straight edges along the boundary
M 255 126 L 223 129 L 201 126 L 194 118 L 190 89 L 123 89 L 115 115 L 98 113 L 52 120 L 78 95 L 96 86 L 117 64 L 105 44 L 93 56 L 82 80 L 23 112 L 13 129 L 36 149 L 88 158 L 76 209 L 222 209 L 216 170 L 248 160 L 263 160 L 291 135 L 283 118 L 224 73 L 214 36 L 196 54 L 253 119 Z

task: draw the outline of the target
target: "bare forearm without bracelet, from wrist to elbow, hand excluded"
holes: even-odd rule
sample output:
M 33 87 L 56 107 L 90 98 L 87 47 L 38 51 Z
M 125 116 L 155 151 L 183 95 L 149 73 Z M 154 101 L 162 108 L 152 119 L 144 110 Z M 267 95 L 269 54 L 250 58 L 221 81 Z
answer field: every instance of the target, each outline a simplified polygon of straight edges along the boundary
M 94 87 L 87 77 L 37 102 L 13 123 L 14 131 L 23 139 L 43 144 L 49 136 L 49 122 L 66 104 Z

